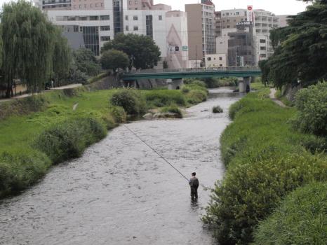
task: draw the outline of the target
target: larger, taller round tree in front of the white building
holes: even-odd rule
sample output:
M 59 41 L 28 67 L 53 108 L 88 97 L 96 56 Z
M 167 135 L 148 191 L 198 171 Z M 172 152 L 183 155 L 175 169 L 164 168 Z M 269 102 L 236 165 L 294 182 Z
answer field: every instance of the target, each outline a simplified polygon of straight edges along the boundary
M 161 55 L 151 37 L 138 34 L 117 34 L 114 40 L 105 43 L 101 52 L 112 49 L 128 55 L 130 69 L 151 69 L 158 64 Z

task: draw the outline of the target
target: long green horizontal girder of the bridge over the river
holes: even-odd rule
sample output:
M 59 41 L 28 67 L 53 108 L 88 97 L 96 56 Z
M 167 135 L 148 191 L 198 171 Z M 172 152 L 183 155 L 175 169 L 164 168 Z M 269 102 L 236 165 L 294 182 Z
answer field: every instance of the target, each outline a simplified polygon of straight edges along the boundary
M 152 69 L 124 73 L 123 80 L 138 79 L 182 79 L 182 78 L 212 78 L 212 77 L 249 77 L 260 76 L 257 66 L 196 68 L 196 69 Z

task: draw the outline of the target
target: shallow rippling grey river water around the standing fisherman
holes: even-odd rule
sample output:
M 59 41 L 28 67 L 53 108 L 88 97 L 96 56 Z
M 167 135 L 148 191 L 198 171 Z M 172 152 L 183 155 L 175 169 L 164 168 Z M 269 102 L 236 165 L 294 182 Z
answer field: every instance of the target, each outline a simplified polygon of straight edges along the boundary
M 128 127 L 201 186 L 192 202 L 187 181 L 125 127 L 81 158 L 51 169 L 36 186 L 0 202 L 0 244 L 215 244 L 200 218 L 222 179 L 219 137 L 229 88 L 187 109 L 182 120 L 141 120 Z M 220 105 L 224 113 L 213 114 Z

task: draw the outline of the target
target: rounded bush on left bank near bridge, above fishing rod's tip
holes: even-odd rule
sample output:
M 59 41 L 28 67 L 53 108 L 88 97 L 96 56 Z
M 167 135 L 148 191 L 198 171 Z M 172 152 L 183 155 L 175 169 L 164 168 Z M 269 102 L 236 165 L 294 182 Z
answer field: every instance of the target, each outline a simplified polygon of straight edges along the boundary
M 133 89 L 121 89 L 112 94 L 110 102 L 121 106 L 128 115 L 139 115 L 146 111 L 145 98 Z

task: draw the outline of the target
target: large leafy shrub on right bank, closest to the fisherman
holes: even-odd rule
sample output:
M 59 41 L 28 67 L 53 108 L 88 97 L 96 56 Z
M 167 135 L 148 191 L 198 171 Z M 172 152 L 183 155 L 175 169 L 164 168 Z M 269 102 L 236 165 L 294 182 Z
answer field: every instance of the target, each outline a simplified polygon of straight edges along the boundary
M 224 181 L 216 183 L 203 221 L 215 228 L 220 244 L 248 243 L 255 225 L 267 218 L 283 196 L 322 180 L 327 180 L 326 158 L 310 153 L 233 165 Z

